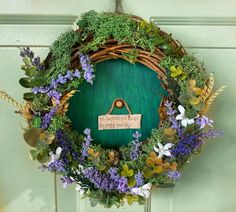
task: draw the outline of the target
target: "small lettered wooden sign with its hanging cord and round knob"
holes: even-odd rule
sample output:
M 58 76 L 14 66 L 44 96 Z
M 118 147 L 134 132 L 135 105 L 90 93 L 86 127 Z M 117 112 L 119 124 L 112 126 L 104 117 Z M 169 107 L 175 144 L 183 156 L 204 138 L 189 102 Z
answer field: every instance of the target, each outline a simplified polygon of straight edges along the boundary
M 114 107 L 122 108 L 123 106 L 128 110 L 128 115 L 111 115 Z M 140 129 L 141 118 L 141 114 L 132 114 L 125 100 L 116 99 L 106 115 L 98 116 L 98 130 Z

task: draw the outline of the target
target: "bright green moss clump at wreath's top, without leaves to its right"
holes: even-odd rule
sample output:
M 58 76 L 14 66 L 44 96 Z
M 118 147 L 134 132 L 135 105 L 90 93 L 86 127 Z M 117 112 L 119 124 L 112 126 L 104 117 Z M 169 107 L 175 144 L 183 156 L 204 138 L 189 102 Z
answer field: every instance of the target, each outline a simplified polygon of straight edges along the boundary
M 97 50 L 109 38 L 114 38 L 120 43 L 130 43 L 138 27 L 129 15 L 95 11 L 85 13 L 77 24 L 82 30 L 82 39 L 93 36 L 93 40 L 82 49 L 84 52 Z

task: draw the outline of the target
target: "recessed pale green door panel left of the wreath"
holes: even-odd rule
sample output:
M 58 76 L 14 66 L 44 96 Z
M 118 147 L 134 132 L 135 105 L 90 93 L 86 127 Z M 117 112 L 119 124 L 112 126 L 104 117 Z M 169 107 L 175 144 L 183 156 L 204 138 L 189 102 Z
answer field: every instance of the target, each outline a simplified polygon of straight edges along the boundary
M 23 75 L 17 48 L 0 48 L 0 87 L 22 102 L 23 89 L 18 85 Z M 48 49 L 38 49 L 45 55 Z M 0 211 L 54 211 L 54 177 L 38 169 L 29 159 L 30 148 L 23 140 L 24 120 L 12 106 L 0 103 Z

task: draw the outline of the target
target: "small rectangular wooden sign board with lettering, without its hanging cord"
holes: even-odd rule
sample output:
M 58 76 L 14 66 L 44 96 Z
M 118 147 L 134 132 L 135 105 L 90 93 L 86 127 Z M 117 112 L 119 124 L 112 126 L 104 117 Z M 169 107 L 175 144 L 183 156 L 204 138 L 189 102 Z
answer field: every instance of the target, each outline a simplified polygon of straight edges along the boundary
M 140 129 L 141 117 L 141 114 L 98 116 L 98 129 Z

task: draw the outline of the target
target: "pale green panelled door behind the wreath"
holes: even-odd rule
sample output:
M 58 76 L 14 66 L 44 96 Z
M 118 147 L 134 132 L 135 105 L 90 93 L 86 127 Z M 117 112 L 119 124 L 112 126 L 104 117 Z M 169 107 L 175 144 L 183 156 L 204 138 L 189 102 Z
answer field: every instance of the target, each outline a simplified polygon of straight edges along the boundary
M 205 61 L 216 87 L 227 86 L 211 115 L 225 136 L 209 141 L 200 156 L 186 166 L 173 189 L 160 189 L 145 206 L 153 212 L 236 211 L 235 104 L 236 1 L 234 0 L 123 0 L 125 12 L 151 18 L 173 32 L 187 51 Z M 20 102 L 24 90 L 18 46 L 31 46 L 40 56 L 56 37 L 71 28 L 84 11 L 113 11 L 114 0 L 0 0 L 0 89 Z M 0 211 L 106 211 L 92 209 L 74 188 L 62 190 L 52 174 L 41 173 L 28 158 L 21 133 L 23 120 L 6 103 L 0 104 Z M 111 211 L 115 211 L 112 209 Z M 144 211 L 141 206 L 118 211 Z

